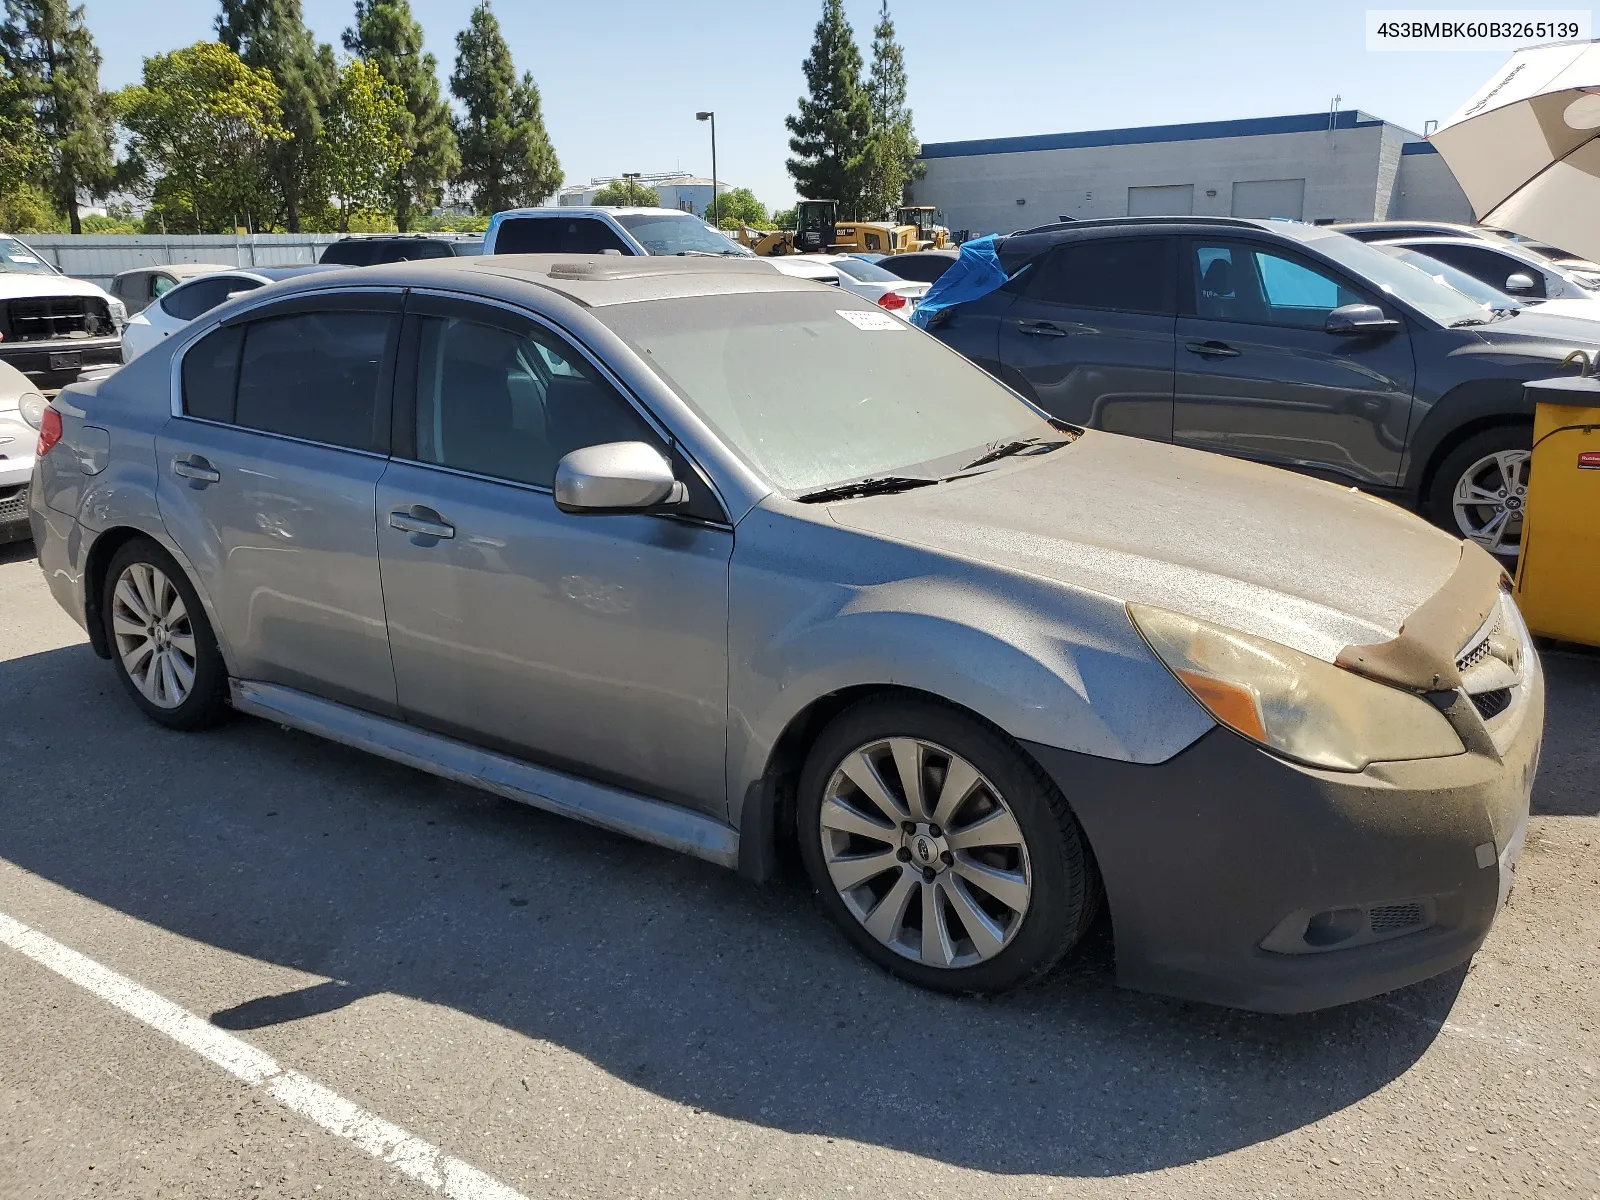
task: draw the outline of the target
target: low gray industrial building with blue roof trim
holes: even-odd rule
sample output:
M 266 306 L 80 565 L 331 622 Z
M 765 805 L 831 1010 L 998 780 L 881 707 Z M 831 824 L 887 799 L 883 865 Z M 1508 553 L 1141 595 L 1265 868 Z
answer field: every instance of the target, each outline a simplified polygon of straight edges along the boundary
M 1429 142 L 1355 109 L 928 142 L 922 163 L 917 203 L 973 235 L 1107 216 L 1472 221 Z

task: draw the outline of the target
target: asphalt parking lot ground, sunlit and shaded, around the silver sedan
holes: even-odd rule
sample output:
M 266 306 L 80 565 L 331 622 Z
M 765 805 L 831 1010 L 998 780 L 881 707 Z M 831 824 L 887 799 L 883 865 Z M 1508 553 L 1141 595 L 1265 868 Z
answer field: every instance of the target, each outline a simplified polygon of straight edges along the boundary
M 0 931 L 46 947 L 0 944 L 0 1195 L 1597 1200 L 1600 656 L 1544 661 L 1528 850 L 1469 968 L 1254 1016 L 1117 989 L 1102 925 L 952 1000 L 798 882 L 259 720 L 160 730 L 0 550 Z

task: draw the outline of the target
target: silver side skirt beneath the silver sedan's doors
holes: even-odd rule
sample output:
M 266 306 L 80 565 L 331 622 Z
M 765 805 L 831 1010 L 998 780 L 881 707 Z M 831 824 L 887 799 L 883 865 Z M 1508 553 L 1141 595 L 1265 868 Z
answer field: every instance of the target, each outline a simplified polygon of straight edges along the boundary
M 507 800 L 570 816 L 656 846 L 739 866 L 739 834 L 686 808 L 442 738 L 387 717 L 307 696 L 277 683 L 229 680 L 234 707 L 318 738 L 454 779 Z

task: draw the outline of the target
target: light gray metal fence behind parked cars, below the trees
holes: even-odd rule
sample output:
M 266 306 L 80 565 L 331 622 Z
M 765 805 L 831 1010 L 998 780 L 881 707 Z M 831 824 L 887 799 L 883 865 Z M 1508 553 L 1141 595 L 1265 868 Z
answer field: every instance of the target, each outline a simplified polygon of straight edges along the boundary
M 315 262 L 339 234 L 24 234 L 42 259 L 64 275 L 109 288 L 133 267 L 216 262 L 226 267 L 294 267 Z

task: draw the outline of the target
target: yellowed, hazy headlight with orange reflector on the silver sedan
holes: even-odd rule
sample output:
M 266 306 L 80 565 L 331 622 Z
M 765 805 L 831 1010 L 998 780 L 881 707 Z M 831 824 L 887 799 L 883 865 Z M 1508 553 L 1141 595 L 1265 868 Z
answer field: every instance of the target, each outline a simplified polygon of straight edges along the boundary
M 1128 616 L 1206 712 L 1285 758 L 1360 771 L 1466 749 L 1445 715 L 1410 691 L 1165 608 L 1128 605 Z

